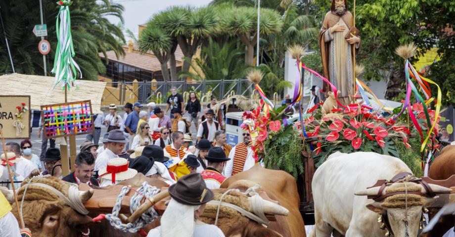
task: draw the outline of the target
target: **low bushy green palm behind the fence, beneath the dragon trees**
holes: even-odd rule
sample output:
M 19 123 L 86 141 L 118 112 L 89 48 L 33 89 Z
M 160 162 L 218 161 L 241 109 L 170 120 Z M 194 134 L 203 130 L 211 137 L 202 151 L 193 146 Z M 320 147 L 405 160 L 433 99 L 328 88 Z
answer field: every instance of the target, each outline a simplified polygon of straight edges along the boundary
M 235 41 L 230 41 L 222 47 L 212 39 L 208 46 L 202 47 L 200 58 L 190 63 L 194 73 L 182 71 L 180 77 L 189 77 L 195 80 L 220 80 L 239 78 L 245 69 L 242 56 L 244 51 L 236 48 Z M 185 59 L 188 60 L 189 59 Z

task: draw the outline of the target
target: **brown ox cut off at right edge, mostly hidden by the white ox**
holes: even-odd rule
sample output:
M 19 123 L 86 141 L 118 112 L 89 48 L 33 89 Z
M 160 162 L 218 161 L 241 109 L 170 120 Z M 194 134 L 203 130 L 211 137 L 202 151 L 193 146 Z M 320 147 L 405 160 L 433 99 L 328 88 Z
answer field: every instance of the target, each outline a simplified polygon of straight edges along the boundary
M 455 174 L 455 146 L 447 146 L 442 149 L 441 153 L 437 158 L 434 159 L 433 163 L 430 166 L 430 173 L 428 177 L 434 180 L 444 180 L 450 178 Z M 437 210 L 432 214 L 436 214 Z M 431 215 L 430 215 L 431 218 Z M 442 216 L 438 224 L 433 227 L 428 233 L 424 233 L 421 237 L 441 237 L 454 227 L 455 216 L 446 215 Z

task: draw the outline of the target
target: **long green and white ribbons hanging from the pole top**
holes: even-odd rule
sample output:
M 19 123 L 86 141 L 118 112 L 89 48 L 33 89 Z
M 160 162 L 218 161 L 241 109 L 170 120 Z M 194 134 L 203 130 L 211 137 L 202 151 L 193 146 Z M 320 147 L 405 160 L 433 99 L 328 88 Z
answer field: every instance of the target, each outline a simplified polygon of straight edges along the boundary
M 55 49 L 54 68 L 51 73 L 55 73 L 54 87 L 61 84 L 63 89 L 70 89 L 71 85 L 76 80 L 77 71 L 81 78 L 82 72 L 73 57 L 76 55 L 73 47 L 73 38 L 71 36 L 71 19 L 69 5 L 70 0 L 62 0 L 57 2 L 60 5 L 60 10 L 57 15 L 55 25 L 57 31 L 57 48 Z M 61 24 L 59 24 L 61 21 Z M 76 71 L 77 69 L 77 71 Z

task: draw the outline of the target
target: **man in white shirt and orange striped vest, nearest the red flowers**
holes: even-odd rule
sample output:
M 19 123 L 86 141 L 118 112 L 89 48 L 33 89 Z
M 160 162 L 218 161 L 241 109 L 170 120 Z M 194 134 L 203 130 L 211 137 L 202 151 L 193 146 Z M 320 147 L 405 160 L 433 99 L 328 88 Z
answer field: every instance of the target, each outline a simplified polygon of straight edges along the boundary
M 224 173 L 227 178 L 254 166 L 255 160 L 250 141 L 250 134 L 243 131 L 243 143 L 237 144 L 229 153 L 230 159 L 226 163 Z

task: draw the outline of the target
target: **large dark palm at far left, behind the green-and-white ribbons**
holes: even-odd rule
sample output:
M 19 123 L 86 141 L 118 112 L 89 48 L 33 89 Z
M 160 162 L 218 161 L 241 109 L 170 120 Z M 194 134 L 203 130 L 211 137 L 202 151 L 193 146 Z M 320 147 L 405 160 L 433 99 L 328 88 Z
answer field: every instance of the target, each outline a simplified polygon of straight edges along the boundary
M 34 25 L 40 22 L 38 1 L 0 0 L 0 6 L 4 23 L 4 29 L 0 25 L 0 41 L 4 42 L 4 30 L 9 41 L 16 72 L 41 75 L 43 56 L 36 48 L 40 39 L 32 33 Z M 108 50 L 114 50 L 117 57 L 125 53 L 122 48 L 125 43 L 123 33 L 106 18 L 107 15 L 113 15 L 123 21 L 121 16 L 123 6 L 111 3 L 109 0 L 75 1 L 70 7 L 70 11 L 71 33 L 76 53 L 75 61 L 81 67 L 84 79 L 96 80 L 97 75 L 106 70 L 98 52 L 105 54 Z M 54 49 L 57 44 L 55 17 L 58 13 L 58 5 L 54 0 L 44 0 L 43 12 L 47 24 L 46 40 L 51 45 L 51 51 L 47 57 L 47 71 L 49 72 L 52 69 Z M 0 47 L 0 72 L 12 72 L 5 47 Z

